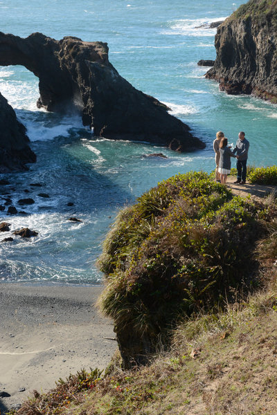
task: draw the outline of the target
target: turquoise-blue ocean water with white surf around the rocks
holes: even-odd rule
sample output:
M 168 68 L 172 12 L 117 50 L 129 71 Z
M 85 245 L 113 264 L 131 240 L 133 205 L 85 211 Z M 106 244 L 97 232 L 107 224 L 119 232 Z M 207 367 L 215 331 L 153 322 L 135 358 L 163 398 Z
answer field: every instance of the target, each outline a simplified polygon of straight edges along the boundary
M 199 59 L 214 59 L 216 29 L 244 1 L 232 0 L 1 0 L 3 33 L 26 37 L 41 32 L 109 45 L 109 60 L 137 89 L 166 102 L 206 149 L 177 154 L 145 143 L 95 137 L 80 117 L 38 110 L 38 79 L 22 66 L 0 67 L 0 91 L 27 127 L 37 163 L 24 173 L 0 175 L 11 185 L 12 204 L 32 197 L 26 214 L 6 216 L 11 231 L 26 227 L 39 236 L 0 243 L 0 281 L 99 284 L 96 268 L 102 241 L 118 209 L 178 172 L 214 168 L 218 130 L 235 143 L 238 131 L 251 143 L 249 163 L 276 163 L 277 107 L 248 96 L 229 96 L 206 80 Z M 148 158 L 163 152 L 168 158 Z M 34 187 L 31 183 L 42 183 Z M 29 192 L 24 192 L 28 190 Z M 47 193 L 48 199 L 38 196 Z M 1 201 L 0 204 L 3 201 Z M 69 207 L 67 203 L 73 202 Z M 78 217 L 80 223 L 68 221 Z M 1 238 L 3 239 L 3 238 Z

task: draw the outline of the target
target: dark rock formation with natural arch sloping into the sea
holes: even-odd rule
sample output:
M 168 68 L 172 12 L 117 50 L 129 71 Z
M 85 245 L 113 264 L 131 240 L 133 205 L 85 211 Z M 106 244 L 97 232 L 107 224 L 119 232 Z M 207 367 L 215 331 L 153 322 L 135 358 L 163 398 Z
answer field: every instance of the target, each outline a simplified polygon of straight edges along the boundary
M 157 99 L 136 90 L 108 59 L 107 44 L 77 37 L 57 41 L 0 33 L 0 65 L 24 65 L 39 77 L 38 107 L 82 112 L 96 136 L 159 143 L 174 150 L 204 148 L 189 127 Z

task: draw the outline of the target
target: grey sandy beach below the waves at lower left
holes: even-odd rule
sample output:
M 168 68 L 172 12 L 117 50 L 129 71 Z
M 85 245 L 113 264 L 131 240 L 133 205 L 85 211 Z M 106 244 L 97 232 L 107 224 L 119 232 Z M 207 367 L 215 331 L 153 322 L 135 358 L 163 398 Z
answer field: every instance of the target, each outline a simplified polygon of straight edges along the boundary
M 117 343 L 96 301 L 103 286 L 0 284 L 1 414 L 80 369 L 105 369 Z M 24 391 L 20 391 L 24 389 Z

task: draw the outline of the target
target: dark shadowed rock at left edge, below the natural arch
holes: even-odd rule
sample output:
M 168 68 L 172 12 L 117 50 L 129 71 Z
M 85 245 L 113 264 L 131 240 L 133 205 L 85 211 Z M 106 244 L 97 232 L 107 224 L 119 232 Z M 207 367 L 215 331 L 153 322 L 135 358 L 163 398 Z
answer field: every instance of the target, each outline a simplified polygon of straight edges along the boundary
M 0 173 L 26 169 L 26 163 L 35 162 L 28 143 L 26 128 L 0 93 Z

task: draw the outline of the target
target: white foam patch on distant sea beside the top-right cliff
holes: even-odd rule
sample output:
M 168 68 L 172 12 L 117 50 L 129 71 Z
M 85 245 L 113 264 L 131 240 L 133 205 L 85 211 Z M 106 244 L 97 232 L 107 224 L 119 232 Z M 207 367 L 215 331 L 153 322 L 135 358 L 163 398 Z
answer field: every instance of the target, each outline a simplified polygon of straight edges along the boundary
M 199 27 L 211 24 L 213 21 L 222 21 L 226 17 L 217 17 L 216 19 L 180 19 L 168 22 L 169 29 L 163 30 L 163 35 L 182 35 L 207 37 L 214 36 L 216 28 Z

